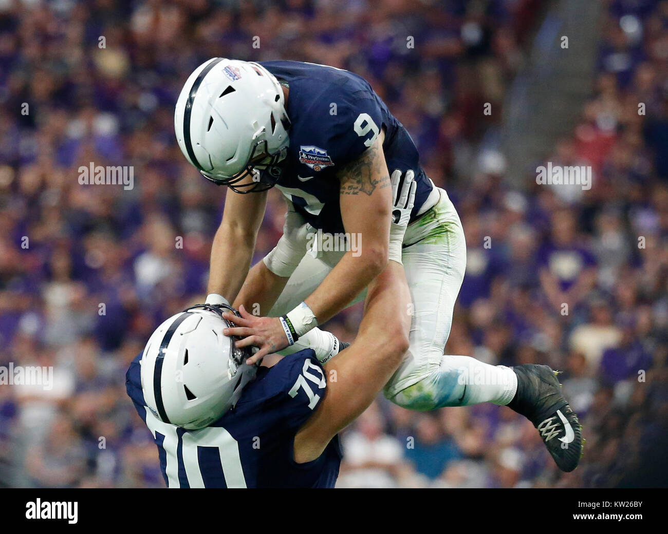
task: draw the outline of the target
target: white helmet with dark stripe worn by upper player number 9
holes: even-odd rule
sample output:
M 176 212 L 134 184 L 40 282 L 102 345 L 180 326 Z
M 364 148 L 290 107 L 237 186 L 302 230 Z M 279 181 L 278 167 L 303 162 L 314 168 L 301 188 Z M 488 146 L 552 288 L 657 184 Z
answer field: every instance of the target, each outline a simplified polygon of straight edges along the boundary
M 188 162 L 207 180 L 241 193 L 265 191 L 279 180 L 289 127 L 276 77 L 259 63 L 237 59 L 214 57 L 197 67 L 174 111 Z M 238 184 L 246 173 L 253 182 Z

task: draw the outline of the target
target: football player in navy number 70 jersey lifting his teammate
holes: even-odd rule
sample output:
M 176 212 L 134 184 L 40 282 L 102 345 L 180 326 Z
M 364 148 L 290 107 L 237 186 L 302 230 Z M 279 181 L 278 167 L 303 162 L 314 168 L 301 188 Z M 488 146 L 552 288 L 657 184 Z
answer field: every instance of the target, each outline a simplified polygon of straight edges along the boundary
M 414 194 L 405 182 L 395 207 L 403 216 L 391 233 L 405 231 Z M 395 243 L 400 247 L 401 239 Z M 251 349 L 230 328 L 252 316 L 226 304 L 200 304 L 168 318 L 126 377 L 168 487 L 333 487 L 341 461 L 337 433 L 399 366 L 408 348 L 409 302 L 403 268 L 390 261 L 369 284 L 355 342 L 324 365 L 310 348 L 271 367 L 248 364 Z

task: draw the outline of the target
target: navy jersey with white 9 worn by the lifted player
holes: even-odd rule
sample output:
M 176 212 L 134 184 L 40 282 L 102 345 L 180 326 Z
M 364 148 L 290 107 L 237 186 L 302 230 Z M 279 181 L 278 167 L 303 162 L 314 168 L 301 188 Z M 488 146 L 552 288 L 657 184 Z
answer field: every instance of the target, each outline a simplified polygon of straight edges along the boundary
M 263 61 L 289 85 L 290 146 L 277 187 L 315 228 L 343 232 L 337 172 L 369 148 L 385 129 L 383 152 L 389 172 L 415 173 L 414 220 L 432 191 L 420 167 L 418 150 L 406 129 L 389 112 L 371 85 L 349 71 L 301 63 Z

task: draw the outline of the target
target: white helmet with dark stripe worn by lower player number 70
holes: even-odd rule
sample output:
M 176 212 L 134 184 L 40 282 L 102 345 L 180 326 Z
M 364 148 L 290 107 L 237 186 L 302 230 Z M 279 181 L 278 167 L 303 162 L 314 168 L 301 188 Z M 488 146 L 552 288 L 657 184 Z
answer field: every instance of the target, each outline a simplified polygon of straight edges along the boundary
M 225 336 L 231 325 L 226 304 L 198 304 L 163 322 L 149 338 L 140 360 L 144 402 L 163 421 L 202 429 L 229 411 L 253 380 L 251 351 Z

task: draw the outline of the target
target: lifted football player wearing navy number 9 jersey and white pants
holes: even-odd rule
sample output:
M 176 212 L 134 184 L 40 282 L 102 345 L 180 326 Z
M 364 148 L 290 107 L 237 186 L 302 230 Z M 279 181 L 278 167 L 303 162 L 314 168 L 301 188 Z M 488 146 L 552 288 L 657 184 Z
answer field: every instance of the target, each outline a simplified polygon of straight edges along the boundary
M 259 347 L 251 362 L 301 337 L 326 337 L 318 324 L 361 300 L 388 258 L 402 262 L 412 297 L 410 348 L 385 396 L 421 411 L 508 405 L 532 421 L 560 469 L 578 465 L 580 425 L 548 366 L 508 368 L 444 354 L 466 268 L 462 224 L 448 194 L 420 166 L 409 134 L 367 81 L 313 63 L 216 57 L 186 81 L 174 126 L 188 162 L 227 186 L 207 302 L 259 304 L 264 316 L 234 330 L 244 337 L 239 346 Z M 415 205 L 398 256 L 390 252 L 397 249 L 387 222 L 390 172 L 397 180 L 415 179 Z M 289 205 L 284 235 L 249 270 L 272 187 Z M 345 236 L 347 250 L 331 250 L 329 236 Z

